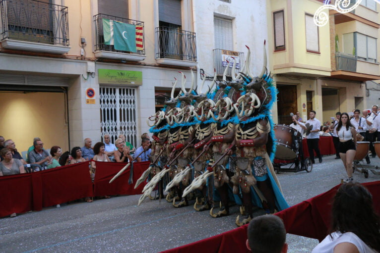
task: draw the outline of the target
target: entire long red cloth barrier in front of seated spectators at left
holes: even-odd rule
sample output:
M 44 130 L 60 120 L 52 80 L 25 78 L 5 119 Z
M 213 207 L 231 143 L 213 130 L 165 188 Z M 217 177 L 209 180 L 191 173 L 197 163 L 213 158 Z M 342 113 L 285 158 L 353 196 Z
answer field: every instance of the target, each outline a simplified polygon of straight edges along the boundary
M 94 182 L 89 162 L 81 162 L 38 172 L 0 177 L 0 217 L 11 213 L 41 210 L 85 197 L 141 194 L 145 182 L 137 189 L 134 183 L 148 168 L 149 162 L 133 163 L 133 184 L 128 184 L 130 167 L 109 184 L 111 178 L 126 164 L 96 162 Z

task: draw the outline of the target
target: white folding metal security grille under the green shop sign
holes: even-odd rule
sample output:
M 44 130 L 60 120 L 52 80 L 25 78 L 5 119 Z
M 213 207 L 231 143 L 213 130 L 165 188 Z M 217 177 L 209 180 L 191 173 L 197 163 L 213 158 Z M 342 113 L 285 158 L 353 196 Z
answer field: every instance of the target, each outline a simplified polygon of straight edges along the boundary
M 115 144 L 120 134 L 136 147 L 136 90 L 133 88 L 100 88 L 100 131 Z

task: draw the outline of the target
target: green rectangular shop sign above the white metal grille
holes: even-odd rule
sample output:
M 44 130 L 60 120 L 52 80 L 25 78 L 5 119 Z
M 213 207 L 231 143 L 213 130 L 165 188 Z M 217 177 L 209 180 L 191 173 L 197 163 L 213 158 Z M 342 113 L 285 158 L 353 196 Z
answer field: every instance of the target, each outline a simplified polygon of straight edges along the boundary
M 142 85 L 141 71 L 98 69 L 98 77 L 100 84 Z

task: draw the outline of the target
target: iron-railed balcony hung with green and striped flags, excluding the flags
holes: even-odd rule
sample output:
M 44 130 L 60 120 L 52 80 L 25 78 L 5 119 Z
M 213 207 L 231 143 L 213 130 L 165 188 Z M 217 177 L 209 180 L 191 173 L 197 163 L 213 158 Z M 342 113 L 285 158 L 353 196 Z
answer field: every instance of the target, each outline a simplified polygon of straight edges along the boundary
M 142 49 L 137 49 L 136 52 L 116 50 L 114 45 L 107 45 L 104 41 L 103 19 L 119 21 L 125 24 L 142 26 Z M 145 41 L 144 41 L 144 22 L 116 17 L 112 15 L 99 13 L 94 16 L 95 22 L 95 57 L 120 59 L 126 61 L 141 61 L 145 59 Z

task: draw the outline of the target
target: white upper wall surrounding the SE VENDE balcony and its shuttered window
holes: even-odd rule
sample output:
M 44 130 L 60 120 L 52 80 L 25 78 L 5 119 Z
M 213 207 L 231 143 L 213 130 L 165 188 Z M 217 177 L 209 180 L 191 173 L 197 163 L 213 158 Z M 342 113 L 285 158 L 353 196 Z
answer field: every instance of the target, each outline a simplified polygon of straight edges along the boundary
M 265 0 L 232 0 L 231 3 L 219 0 L 193 0 L 193 11 L 199 68 L 204 69 L 209 76 L 214 75 L 212 50 L 215 48 L 215 15 L 233 20 L 234 51 L 244 52 L 246 57 L 248 50 L 245 45 L 250 47 L 251 72 L 253 75 L 260 73 L 263 43 L 264 40 L 268 40 Z M 199 74 L 197 78 L 199 79 Z M 207 89 L 210 82 L 206 81 L 203 90 Z

